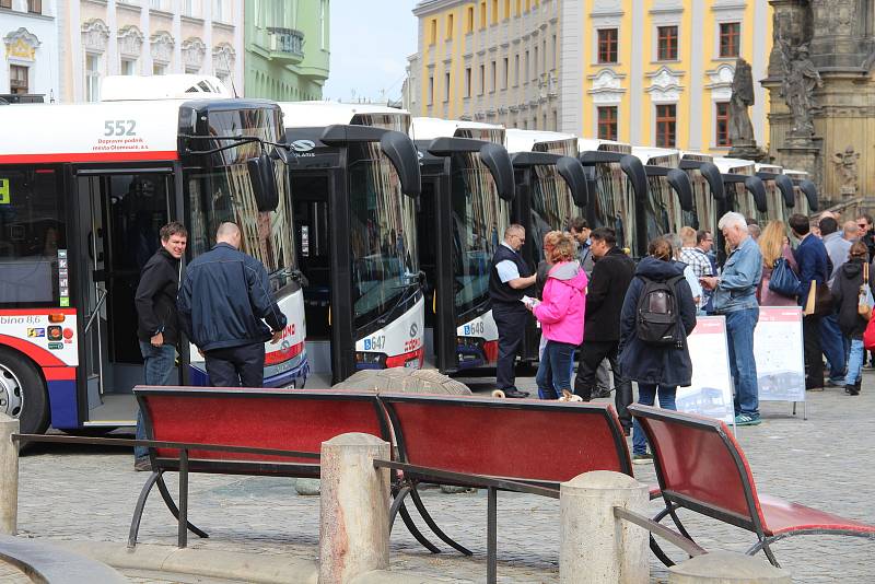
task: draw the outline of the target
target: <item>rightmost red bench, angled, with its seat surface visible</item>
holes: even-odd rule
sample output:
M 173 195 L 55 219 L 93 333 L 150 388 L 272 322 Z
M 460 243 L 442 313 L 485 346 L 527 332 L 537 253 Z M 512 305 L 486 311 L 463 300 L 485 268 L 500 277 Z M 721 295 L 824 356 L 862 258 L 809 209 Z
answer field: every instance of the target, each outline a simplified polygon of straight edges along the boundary
M 785 537 L 848 535 L 875 539 L 873 525 L 757 494 L 747 458 L 725 423 L 641 405 L 630 406 L 629 411 L 648 436 L 665 501 L 665 509 L 654 521 L 670 516 L 690 541 L 692 537 L 678 518 L 679 509 L 752 532 L 757 542 L 747 553 L 754 556 L 762 549 L 777 567 L 770 546 Z M 654 552 L 672 565 L 662 550 L 654 547 Z

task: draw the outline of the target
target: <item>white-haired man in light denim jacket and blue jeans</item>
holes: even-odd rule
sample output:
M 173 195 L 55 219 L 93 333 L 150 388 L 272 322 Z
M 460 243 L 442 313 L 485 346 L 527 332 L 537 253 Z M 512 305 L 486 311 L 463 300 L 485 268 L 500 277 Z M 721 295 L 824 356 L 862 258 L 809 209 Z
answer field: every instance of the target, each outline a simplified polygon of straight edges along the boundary
M 714 291 L 714 312 L 726 317 L 730 367 L 735 385 L 735 423 L 757 425 L 760 420 L 754 328 L 759 319 L 757 285 L 762 278 L 762 255 L 748 233 L 743 214 L 724 214 L 718 227 L 730 244 L 730 257 L 723 265 L 723 273 L 700 280 L 703 287 Z

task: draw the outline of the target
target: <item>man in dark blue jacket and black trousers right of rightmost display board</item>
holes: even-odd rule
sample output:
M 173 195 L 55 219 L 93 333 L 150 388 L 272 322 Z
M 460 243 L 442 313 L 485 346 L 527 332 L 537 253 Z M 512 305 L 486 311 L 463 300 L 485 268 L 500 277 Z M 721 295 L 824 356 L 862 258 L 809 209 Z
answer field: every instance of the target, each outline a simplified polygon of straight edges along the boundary
M 808 301 L 812 282 L 817 285 L 829 280 L 829 259 L 827 248 L 818 237 L 810 233 L 808 218 L 802 214 L 791 215 L 790 229 L 800 238 L 796 248 L 796 264 L 800 267 L 800 287 L 796 289 L 800 306 Z M 820 348 L 820 316 L 809 314 L 802 318 L 802 340 L 805 346 L 805 388 L 815 392 L 824 390 L 824 359 Z

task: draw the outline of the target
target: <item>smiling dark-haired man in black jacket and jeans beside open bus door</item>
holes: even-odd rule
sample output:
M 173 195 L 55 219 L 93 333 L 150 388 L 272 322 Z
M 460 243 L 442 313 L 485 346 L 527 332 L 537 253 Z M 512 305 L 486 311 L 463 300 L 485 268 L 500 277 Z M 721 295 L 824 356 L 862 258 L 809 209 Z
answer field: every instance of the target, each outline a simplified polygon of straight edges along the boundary
M 161 248 L 149 258 L 140 273 L 133 299 L 137 305 L 137 337 L 145 364 L 145 385 L 167 385 L 176 358 L 179 324 L 176 314 L 176 293 L 179 290 L 182 257 L 188 232 L 182 223 L 167 223 L 159 232 Z M 145 439 L 142 414 L 137 416 L 137 437 Z M 143 467 L 149 451 L 133 451 L 135 466 Z

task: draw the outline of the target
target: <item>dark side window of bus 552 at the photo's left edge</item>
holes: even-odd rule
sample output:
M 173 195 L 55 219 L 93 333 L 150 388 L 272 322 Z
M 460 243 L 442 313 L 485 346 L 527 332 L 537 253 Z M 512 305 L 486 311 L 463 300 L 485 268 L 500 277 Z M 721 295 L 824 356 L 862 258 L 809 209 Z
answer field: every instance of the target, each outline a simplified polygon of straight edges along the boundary
M 54 168 L 0 168 L 0 307 L 69 302 L 59 175 Z

